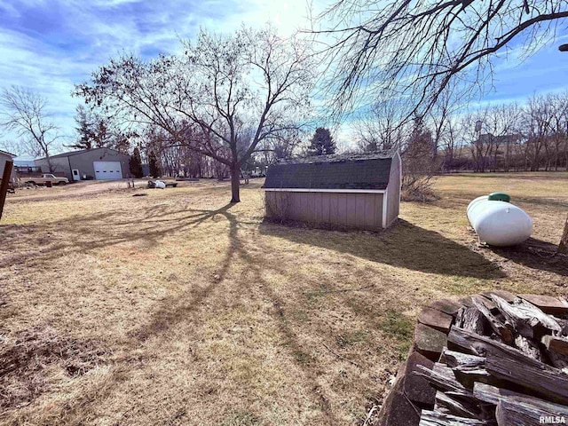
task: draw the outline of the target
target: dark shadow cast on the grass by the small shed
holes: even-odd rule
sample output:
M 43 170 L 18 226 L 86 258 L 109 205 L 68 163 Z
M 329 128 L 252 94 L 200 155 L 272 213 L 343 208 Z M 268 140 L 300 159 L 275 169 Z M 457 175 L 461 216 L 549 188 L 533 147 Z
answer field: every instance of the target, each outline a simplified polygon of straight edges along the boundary
M 484 256 L 405 220 L 382 233 L 339 232 L 263 222 L 260 233 L 327 248 L 381 264 L 414 271 L 499 279 L 506 274 Z

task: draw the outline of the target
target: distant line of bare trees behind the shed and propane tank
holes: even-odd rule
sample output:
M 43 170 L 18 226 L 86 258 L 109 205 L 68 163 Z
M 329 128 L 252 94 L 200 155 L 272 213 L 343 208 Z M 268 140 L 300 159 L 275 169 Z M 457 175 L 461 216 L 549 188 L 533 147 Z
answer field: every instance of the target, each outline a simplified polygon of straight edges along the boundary
M 356 124 L 359 151 L 395 146 L 404 156 L 416 123 L 404 118 L 397 100 L 376 104 Z M 420 126 L 422 151 L 438 172 L 568 170 L 568 92 L 477 110 L 440 98 Z

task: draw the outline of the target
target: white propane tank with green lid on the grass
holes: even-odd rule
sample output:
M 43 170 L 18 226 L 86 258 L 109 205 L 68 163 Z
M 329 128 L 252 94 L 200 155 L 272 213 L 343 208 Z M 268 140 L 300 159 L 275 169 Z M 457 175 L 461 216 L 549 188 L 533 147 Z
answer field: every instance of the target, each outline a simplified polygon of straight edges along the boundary
M 488 200 L 487 195 L 471 201 L 467 214 L 479 239 L 491 246 L 514 246 L 533 233 L 533 219 L 524 209 L 507 201 Z

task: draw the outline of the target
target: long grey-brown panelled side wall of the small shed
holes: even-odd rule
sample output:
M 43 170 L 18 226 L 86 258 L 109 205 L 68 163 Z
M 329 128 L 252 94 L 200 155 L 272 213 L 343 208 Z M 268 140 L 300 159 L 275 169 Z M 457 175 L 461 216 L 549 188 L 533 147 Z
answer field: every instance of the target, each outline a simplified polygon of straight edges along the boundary
M 265 191 L 266 216 L 314 225 L 383 228 L 383 193 Z

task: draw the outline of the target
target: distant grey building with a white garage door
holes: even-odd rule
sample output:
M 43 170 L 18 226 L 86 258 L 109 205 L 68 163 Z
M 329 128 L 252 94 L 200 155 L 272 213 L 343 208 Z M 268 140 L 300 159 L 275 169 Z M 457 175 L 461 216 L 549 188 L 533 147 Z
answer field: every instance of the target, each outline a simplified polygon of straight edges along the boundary
M 111 148 L 93 148 L 51 155 L 52 171 L 62 172 L 69 180 L 122 179 L 130 177 L 129 155 Z M 35 161 L 43 173 L 50 171 L 47 159 Z

